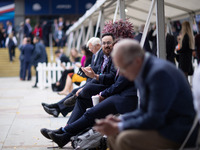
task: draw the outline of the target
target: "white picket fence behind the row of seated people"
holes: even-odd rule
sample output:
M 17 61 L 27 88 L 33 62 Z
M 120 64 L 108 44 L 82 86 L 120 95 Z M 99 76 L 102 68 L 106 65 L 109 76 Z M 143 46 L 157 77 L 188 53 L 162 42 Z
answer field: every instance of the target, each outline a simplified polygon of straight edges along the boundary
M 63 63 L 66 66 L 66 69 L 71 67 L 70 63 Z M 75 72 L 77 72 L 77 67 L 73 66 Z M 61 62 L 58 61 L 57 63 L 39 63 L 38 67 L 36 68 L 38 71 L 38 87 L 40 89 L 44 89 L 46 87 L 51 87 L 52 83 L 56 83 L 59 81 L 62 71 L 64 69 L 61 67 Z

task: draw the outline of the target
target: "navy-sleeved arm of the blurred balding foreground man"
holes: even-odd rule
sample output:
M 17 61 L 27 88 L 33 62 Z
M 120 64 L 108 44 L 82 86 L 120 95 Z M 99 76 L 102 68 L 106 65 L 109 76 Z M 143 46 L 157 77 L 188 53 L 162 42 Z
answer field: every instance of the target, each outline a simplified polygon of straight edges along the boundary
M 163 80 L 164 79 L 164 80 Z M 157 129 L 165 124 L 167 115 L 176 96 L 176 79 L 173 79 L 167 71 L 156 72 L 148 81 L 147 106 L 145 112 L 141 109 L 122 116 L 123 129 Z M 147 102 L 148 101 L 148 102 Z M 144 109 L 144 108 L 143 108 Z

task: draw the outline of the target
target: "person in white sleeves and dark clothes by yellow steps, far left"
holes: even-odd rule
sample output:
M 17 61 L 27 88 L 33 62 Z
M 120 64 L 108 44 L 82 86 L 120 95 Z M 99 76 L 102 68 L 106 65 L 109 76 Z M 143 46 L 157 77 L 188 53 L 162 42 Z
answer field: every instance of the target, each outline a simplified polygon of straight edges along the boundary
M 10 62 L 13 62 L 13 59 L 15 58 L 15 47 L 17 46 L 17 39 L 15 36 L 13 36 L 13 33 L 11 32 L 9 36 L 6 38 L 6 47 L 9 51 L 9 57 Z

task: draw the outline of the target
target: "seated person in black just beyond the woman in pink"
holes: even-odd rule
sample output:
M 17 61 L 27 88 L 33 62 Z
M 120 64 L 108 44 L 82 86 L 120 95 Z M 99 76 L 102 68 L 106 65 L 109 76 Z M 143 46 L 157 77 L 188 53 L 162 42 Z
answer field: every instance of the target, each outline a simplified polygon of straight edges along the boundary
M 80 62 L 80 54 L 78 53 L 78 51 L 75 48 L 71 49 L 69 60 L 72 64 L 77 64 L 77 63 Z M 65 66 L 63 66 L 62 64 L 61 64 L 61 66 L 65 70 L 63 71 L 60 80 L 58 82 L 52 84 L 52 90 L 53 91 L 62 91 L 65 87 L 65 83 L 66 83 L 68 73 L 74 72 L 73 67 L 66 69 Z

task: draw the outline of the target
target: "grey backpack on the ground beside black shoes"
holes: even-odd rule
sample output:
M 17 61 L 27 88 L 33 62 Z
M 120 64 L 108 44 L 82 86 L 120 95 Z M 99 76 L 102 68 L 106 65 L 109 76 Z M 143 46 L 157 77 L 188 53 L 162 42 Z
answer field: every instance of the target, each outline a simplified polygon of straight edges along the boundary
M 99 132 L 89 128 L 71 137 L 71 144 L 75 150 L 106 150 L 106 138 Z

